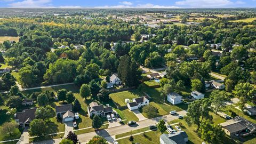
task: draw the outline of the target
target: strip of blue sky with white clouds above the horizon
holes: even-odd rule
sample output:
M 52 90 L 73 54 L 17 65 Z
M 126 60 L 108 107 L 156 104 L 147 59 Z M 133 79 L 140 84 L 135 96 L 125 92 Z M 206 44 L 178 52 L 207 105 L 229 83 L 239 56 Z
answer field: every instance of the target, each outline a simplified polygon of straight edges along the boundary
M 222 8 L 256 7 L 256 0 L 0 0 L 18 8 Z

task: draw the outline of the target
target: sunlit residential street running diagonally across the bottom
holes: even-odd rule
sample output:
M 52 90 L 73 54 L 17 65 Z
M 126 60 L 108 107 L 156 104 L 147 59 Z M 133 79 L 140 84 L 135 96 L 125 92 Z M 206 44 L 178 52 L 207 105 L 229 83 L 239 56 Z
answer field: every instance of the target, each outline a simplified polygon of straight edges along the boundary
M 85 142 L 89 141 L 94 135 L 100 135 L 101 137 L 105 137 L 108 141 L 113 143 L 113 140 L 114 140 L 116 134 L 121 134 L 121 133 L 129 132 L 132 130 L 141 129 L 141 128 L 147 127 L 149 125 L 157 124 L 161 119 L 164 119 L 166 122 L 173 121 L 174 119 L 178 119 L 178 117 L 177 117 L 178 115 L 185 116 L 186 113 L 187 113 L 187 111 L 182 110 L 182 111 L 179 111 L 178 114 L 176 114 L 176 115 L 165 115 L 165 116 L 156 117 L 156 118 L 152 118 L 152 119 L 146 119 L 144 121 L 137 122 L 136 125 L 132 125 L 132 126 L 122 125 L 122 126 L 105 129 L 105 130 L 100 130 L 100 131 L 97 131 L 97 133 L 90 132 L 90 133 L 79 134 L 77 136 L 81 143 L 85 143 Z M 40 142 L 34 142 L 34 143 L 38 143 L 38 144 L 49 143 L 50 144 L 50 143 L 59 143 L 60 141 L 61 141 L 61 139 L 54 139 L 54 140 L 46 140 L 46 141 L 40 141 Z

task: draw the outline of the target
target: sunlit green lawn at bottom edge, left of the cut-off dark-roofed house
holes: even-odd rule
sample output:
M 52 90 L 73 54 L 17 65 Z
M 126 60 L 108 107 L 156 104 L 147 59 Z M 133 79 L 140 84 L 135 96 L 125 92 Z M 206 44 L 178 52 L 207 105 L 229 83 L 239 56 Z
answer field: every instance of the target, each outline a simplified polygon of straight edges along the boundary
M 143 136 L 143 134 L 138 134 L 138 135 L 134 135 L 133 136 L 133 142 L 131 142 L 129 140 L 129 138 L 124 138 L 124 139 L 120 139 L 120 140 L 117 140 L 118 143 L 120 144 L 130 144 L 130 143 L 147 143 L 147 144 L 155 144 L 155 143 L 160 143 L 159 141 L 159 137 L 161 135 L 161 132 L 159 131 L 150 131 L 150 132 L 146 132 L 145 133 L 146 137 Z

